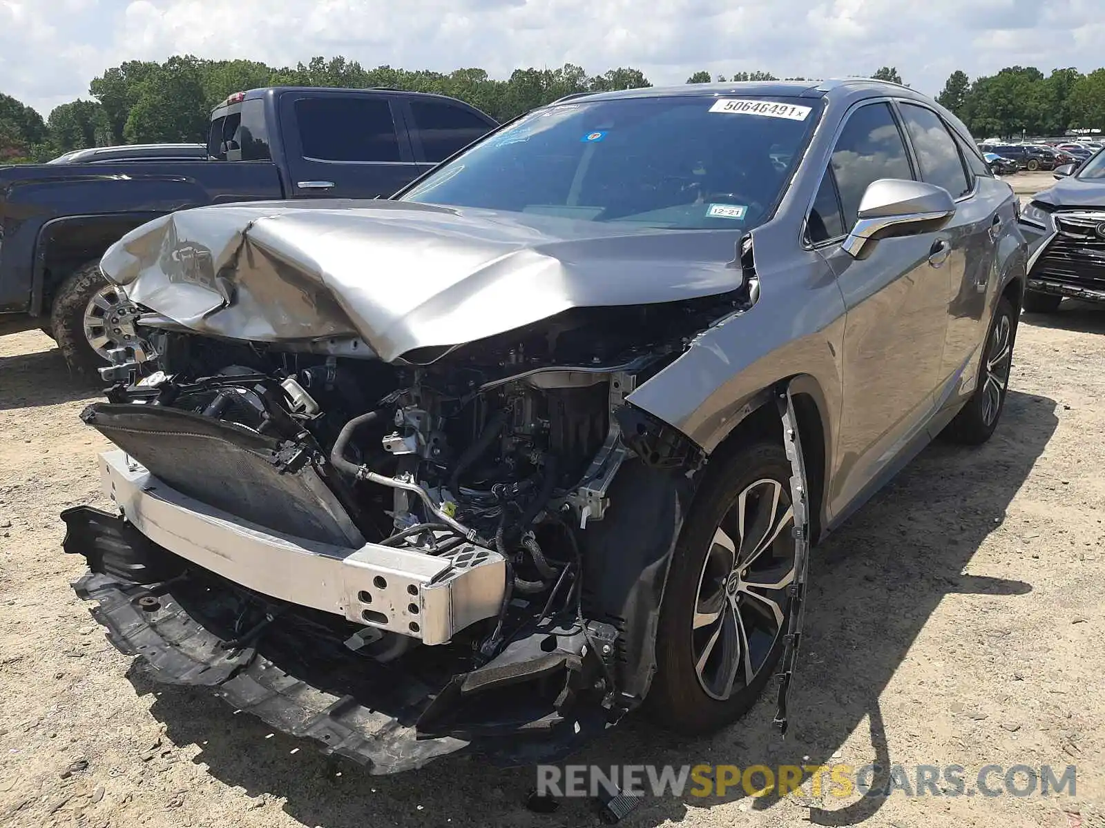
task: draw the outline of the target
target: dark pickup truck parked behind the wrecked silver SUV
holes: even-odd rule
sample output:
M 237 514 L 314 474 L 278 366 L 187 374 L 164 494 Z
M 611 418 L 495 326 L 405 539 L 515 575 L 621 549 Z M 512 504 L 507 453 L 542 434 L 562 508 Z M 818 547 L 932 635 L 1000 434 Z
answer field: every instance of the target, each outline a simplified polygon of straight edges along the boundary
M 211 114 L 206 160 L 0 168 L 0 335 L 41 328 L 74 373 L 148 346 L 99 258 L 164 213 L 232 201 L 387 197 L 497 124 L 397 89 L 274 87 Z

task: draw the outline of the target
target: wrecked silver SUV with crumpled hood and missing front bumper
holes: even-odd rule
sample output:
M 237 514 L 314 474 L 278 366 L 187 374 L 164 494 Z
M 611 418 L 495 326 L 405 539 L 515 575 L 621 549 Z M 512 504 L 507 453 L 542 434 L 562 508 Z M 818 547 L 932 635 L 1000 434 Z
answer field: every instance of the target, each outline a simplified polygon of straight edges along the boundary
M 1024 287 L 949 113 L 841 81 L 576 97 L 382 201 L 187 210 L 83 420 L 77 593 L 155 677 L 372 772 L 704 733 L 778 678 L 807 551 L 987 439 Z

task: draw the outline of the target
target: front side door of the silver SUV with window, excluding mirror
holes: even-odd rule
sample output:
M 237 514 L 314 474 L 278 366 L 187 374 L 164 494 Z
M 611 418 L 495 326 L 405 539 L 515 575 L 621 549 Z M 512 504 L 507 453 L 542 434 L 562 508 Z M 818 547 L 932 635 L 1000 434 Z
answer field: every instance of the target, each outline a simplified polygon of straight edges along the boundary
M 810 241 L 848 308 L 833 513 L 908 459 L 934 410 L 947 332 L 947 276 L 932 262 L 937 234 L 885 238 L 862 259 L 841 247 L 871 182 L 913 178 L 891 102 L 864 102 L 845 117 L 810 212 Z

